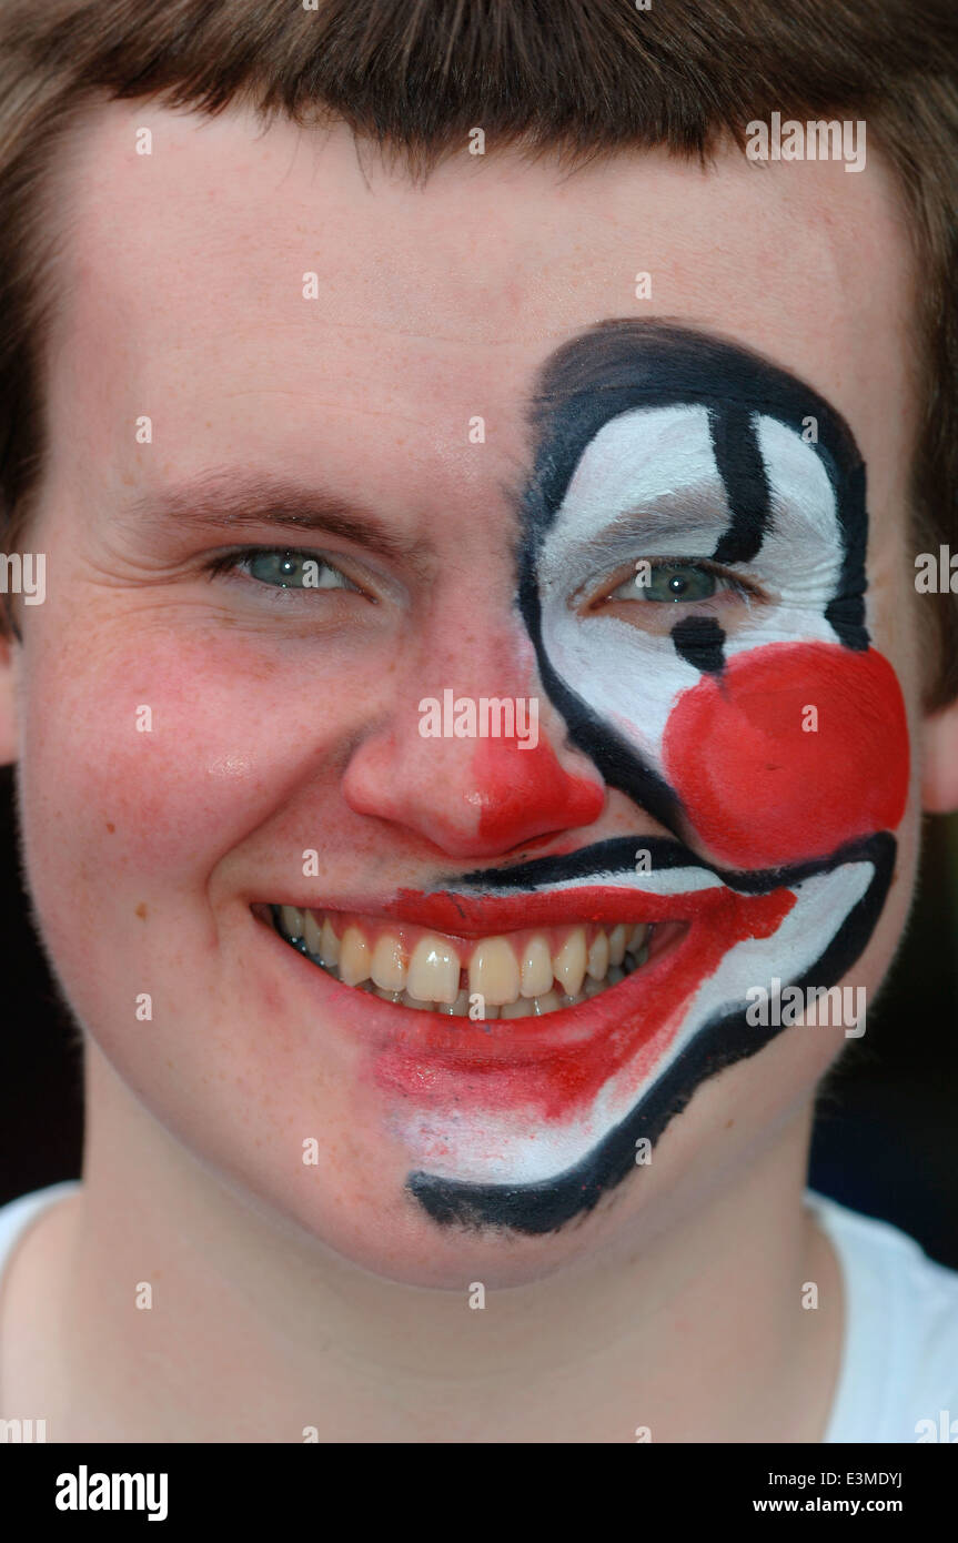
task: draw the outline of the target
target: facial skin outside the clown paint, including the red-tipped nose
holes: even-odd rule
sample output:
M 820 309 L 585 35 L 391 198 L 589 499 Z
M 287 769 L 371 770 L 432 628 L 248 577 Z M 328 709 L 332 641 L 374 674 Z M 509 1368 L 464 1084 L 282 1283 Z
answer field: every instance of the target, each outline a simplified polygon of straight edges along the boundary
M 548 1276 L 660 1216 L 676 1190 L 694 1196 L 716 1140 L 730 1165 L 753 1159 L 798 1092 L 811 1096 L 841 1031 L 784 1035 L 713 1079 L 643 1182 L 580 1227 L 518 1241 L 438 1234 L 404 1191 L 409 1154 L 352 1004 L 318 1021 L 250 904 L 301 886 L 307 849 L 319 853 L 310 883 L 321 903 L 514 861 L 549 835 L 562 850 L 572 822 L 579 841 L 656 832 L 600 785 L 540 691 L 515 613 L 517 523 L 503 492 L 528 471 L 535 370 L 558 339 L 629 310 L 636 250 L 656 275 L 656 313 L 761 347 L 853 424 L 870 475 L 869 560 L 898 576 L 873 637 L 915 714 L 899 518 L 909 287 L 879 162 L 861 177 L 810 164 L 787 182 L 768 167 L 759 188 L 737 159 L 705 177 L 653 156 L 594 168 L 571 191 L 545 164 L 503 181 L 489 157 L 415 193 L 376 174 L 369 196 L 344 133 L 305 153 L 285 127 L 253 140 L 234 114 L 201 133 L 160 113 L 177 153 L 154 154 L 147 184 L 122 148 L 136 113 L 114 106 L 83 131 L 71 188 L 79 281 L 59 321 L 35 529 L 51 554 L 48 599 L 25 619 L 19 682 L 40 926 L 122 1086 L 239 1191 L 373 1273 L 447 1287 Z M 197 242 L 213 191 L 218 239 Z M 836 225 L 816 219 L 822 207 L 841 210 Z M 773 278 L 751 245 L 756 222 L 776 242 Z M 870 282 L 822 285 L 824 267 L 855 264 L 862 230 Z M 307 306 L 299 275 L 315 267 L 326 278 Z M 119 429 L 143 410 L 150 447 Z M 481 447 L 464 427 L 477 412 L 495 430 Z M 327 540 L 322 551 L 344 565 L 363 562 L 376 603 L 285 603 L 201 576 L 211 548 L 233 545 L 228 534 L 147 535 L 122 512 L 130 489 L 278 464 L 418 537 L 427 571 Z M 545 805 L 535 778 L 503 784 L 494 751 L 420 738 L 417 704 L 444 687 L 541 694 Z M 142 704 L 151 733 L 136 730 Z M 483 809 L 497 810 L 484 827 Z M 870 989 L 907 909 L 915 832 L 912 795 L 902 881 L 856 969 Z M 139 992 L 153 995 L 150 1034 L 134 1018 Z M 91 1122 L 106 1150 L 123 1123 L 119 1094 L 100 1074 L 94 1083 Z M 301 1162 L 309 1137 L 318 1168 Z

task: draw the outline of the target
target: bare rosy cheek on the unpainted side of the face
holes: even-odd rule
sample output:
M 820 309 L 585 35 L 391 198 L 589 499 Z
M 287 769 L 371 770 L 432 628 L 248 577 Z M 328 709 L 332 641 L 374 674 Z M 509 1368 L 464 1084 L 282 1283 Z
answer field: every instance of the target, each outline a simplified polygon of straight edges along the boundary
M 151 923 L 185 917 L 324 742 L 288 671 L 239 643 L 213 654 L 133 625 L 122 648 L 108 642 L 69 662 L 43 651 L 25 682 L 29 881 L 54 944 L 74 952 L 103 947 L 97 917 L 122 944 L 142 937 L 143 906 Z

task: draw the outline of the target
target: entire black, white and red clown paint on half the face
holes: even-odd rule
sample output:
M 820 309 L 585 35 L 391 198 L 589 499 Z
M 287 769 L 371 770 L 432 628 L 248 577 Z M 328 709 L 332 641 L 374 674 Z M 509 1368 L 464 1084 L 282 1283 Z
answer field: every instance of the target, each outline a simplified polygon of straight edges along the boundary
M 606 784 L 670 835 L 404 904 L 449 930 L 682 926 L 582 1006 L 417 1015 L 378 1075 L 415 1111 L 398 1122 L 423 1154 L 407 1187 L 430 1216 L 541 1233 L 781 1032 L 747 1023 L 750 989 L 828 988 L 852 967 L 893 873 L 909 759 L 865 623 L 864 466 L 825 401 L 740 347 L 606 322 L 546 366 L 532 423 L 517 600 L 540 677 Z

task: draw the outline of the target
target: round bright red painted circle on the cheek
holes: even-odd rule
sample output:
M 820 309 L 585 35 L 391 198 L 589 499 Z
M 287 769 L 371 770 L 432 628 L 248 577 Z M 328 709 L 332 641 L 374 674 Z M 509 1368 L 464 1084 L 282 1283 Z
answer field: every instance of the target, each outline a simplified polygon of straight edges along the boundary
M 808 708 L 818 731 L 802 727 Z M 779 867 L 895 830 L 909 792 L 901 687 L 875 650 L 768 643 L 683 691 L 665 773 L 719 861 Z

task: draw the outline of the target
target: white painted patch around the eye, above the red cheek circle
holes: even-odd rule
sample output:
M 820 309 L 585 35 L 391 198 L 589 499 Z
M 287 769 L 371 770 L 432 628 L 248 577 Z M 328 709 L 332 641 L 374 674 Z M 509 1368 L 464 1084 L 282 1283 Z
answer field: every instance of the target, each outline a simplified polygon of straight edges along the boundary
M 771 491 L 773 520 L 747 566 L 770 603 L 739 611 L 728 657 L 764 643 L 830 642 L 825 605 L 841 574 L 841 528 L 825 468 L 799 434 L 759 417 L 757 441 Z M 714 461 L 705 407 L 639 407 L 606 423 L 586 446 L 546 535 L 538 565 L 541 634 L 565 685 L 640 753 L 659 775 L 665 725 L 700 673 L 668 633 L 646 631 L 640 608 L 668 616 L 670 602 L 637 597 L 636 625 L 582 616 L 569 605 L 583 585 L 649 557 L 710 559 L 731 523 Z M 677 616 L 720 609 L 676 606 Z

